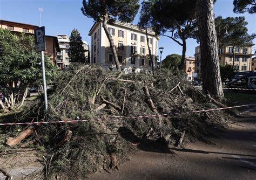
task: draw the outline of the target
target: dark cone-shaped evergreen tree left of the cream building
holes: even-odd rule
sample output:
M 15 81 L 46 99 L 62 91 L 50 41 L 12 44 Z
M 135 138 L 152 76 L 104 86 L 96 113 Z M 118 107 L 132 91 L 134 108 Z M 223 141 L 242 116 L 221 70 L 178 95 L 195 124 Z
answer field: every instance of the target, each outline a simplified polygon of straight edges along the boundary
M 69 57 L 73 63 L 86 63 L 82 37 L 77 29 L 73 29 L 70 36 Z

